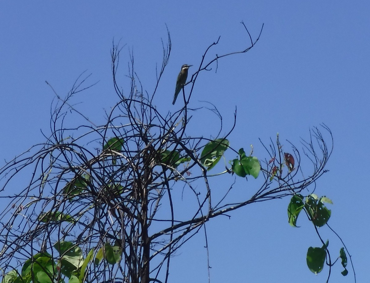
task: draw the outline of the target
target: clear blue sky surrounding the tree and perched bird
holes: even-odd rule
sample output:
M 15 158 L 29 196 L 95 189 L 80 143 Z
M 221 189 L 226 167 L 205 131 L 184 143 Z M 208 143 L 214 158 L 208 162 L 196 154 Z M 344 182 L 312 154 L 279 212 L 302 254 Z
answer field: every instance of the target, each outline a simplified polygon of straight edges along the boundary
M 40 129 L 48 132 L 54 98 L 45 81 L 63 96 L 87 69 L 90 82 L 100 82 L 74 102 L 83 102 L 78 109 L 92 120 L 104 121 L 104 109 L 117 101 L 111 80 L 113 38 L 127 44 L 122 80 L 130 48 L 150 93 L 167 24 L 172 54 L 155 99 L 166 112 L 179 107 L 171 102 L 182 64 L 198 65 L 219 35 L 211 55 L 249 45 L 242 20 L 253 38 L 265 23 L 260 41 L 247 54 L 220 61 L 216 74 L 203 73 L 192 106 L 205 106 L 201 100 L 214 103 L 230 126 L 238 105 L 232 145 L 253 144 L 258 157 L 266 156 L 258 138 L 268 142 L 279 132 L 282 140 L 299 146 L 310 127 L 329 126 L 334 152 L 316 194 L 333 200 L 329 223 L 351 252 L 357 282 L 370 282 L 369 1 L 1 1 L 1 160 L 44 140 Z M 200 117 L 205 134 L 212 132 L 212 120 Z M 253 184 L 238 183 L 237 190 L 252 191 Z M 289 226 L 288 202 L 250 205 L 232 213 L 230 220 L 207 225 L 211 282 L 325 281 L 327 267 L 317 276 L 306 267 L 306 250 L 319 246 L 319 239 L 303 217 L 301 228 Z M 341 245 L 326 228 L 321 230 L 324 238 L 333 239 L 329 247 L 335 258 Z M 184 246 L 172 261 L 170 282 L 207 282 L 204 245 L 199 233 Z M 331 282 L 353 282 L 348 269 L 343 277 L 342 267 L 334 266 Z

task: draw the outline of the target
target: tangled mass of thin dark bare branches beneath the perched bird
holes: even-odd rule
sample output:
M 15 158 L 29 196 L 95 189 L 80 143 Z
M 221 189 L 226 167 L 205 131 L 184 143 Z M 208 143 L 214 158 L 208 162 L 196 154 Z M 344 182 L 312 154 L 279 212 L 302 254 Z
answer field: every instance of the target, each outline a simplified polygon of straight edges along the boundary
M 166 115 L 152 99 L 168 64 L 169 33 L 150 96 L 139 83 L 132 57 L 131 88 L 128 93 L 121 90 L 116 78 L 121 49 L 113 45 L 113 83 L 120 100 L 107 122 L 95 126 L 69 103 L 74 93 L 86 89 L 85 79 L 77 81 L 67 98 L 58 96 L 46 142 L 1 168 L 1 190 L 9 201 L 0 214 L 1 267 L 12 270 L 14 278 L 28 276 L 32 281 L 45 275 L 58 282 L 66 277 L 78 282 L 168 282 L 170 256 L 210 219 L 253 202 L 308 192 L 325 172 L 332 151 L 319 128 L 304 143 L 304 155 L 313 164 L 307 177 L 302 177 L 299 150 L 293 146 L 292 154 L 283 152 L 279 139 L 265 147 L 269 161 L 260 164 L 229 146 L 227 137 L 235 123 L 223 136 L 221 126 L 216 139 L 187 133 L 188 103 L 198 74 L 221 58 L 247 52 L 258 39 L 253 42 L 250 37 L 250 47 L 205 62 L 218 41 L 211 44 L 191 77 L 189 94 L 182 89 L 184 107 Z M 69 128 L 64 125 L 67 115 L 82 116 L 88 125 Z M 323 129 L 332 137 L 326 126 Z M 205 150 L 207 146 L 211 150 Z M 227 202 L 233 180 L 221 196 L 215 196 L 209 184 L 213 178 L 209 170 L 226 149 L 239 154 L 240 160 L 233 160 L 232 168 L 220 173 L 225 178 L 234 180 L 234 173 L 257 177 L 259 171 L 263 176 L 260 188 L 237 203 Z M 254 164 L 248 163 L 254 171 L 246 167 L 246 160 Z M 24 175 L 31 178 L 16 191 Z M 191 196 L 182 200 L 188 210 L 180 213 L 176 203 L 185 194 Z

